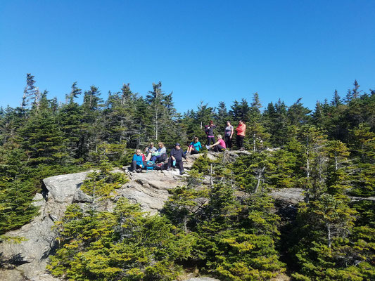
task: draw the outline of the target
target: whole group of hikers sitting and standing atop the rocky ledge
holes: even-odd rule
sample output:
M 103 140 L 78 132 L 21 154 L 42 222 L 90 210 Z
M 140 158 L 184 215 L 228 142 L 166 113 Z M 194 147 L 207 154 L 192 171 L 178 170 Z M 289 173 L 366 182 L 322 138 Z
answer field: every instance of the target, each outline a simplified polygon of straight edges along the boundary
M 216 126 L 212 120 L 210 120 L 210 123 L 205 126 L 205 133 L 207 134 L 206 148 L 208 150 L 212 149 L 215 152 L 223 152 L 227 148 L 231 148 L 231 139 L 234 135 L 234 126 L 231 125 L 231 122 L 227 121 L 227 126 L 225 127 L 225 140 L 222 139 L 222 135 L 217 135 L 217 141 L 215 141 L 213 131 L 215 128 Z M 245 138 L 246 125 L 242 122 L 242 120 L 239 121 L 239 126 L 237 126 L 236 131 L 237 148 L 239 148 L 239 150 L 244 150 L 243 138 Z M 141 169 L 146 167 L 146 164 L 149 161 L 152 163 L 164 162 L 167 159 L 167 150 L 162 142 L 158 143 L 158 147 L 159 148 L 155 148 L 154 143 L 150 143 L 150 145 L 145 149 L 146 156 L 141 154 L 141 150 L 137 149 L 136 154 L 132 159 L 132 171 L 141 171 Z M 201 148 L 202 145 L 198 137 L 194 137 L 193 141 L 191 141 L 188 149 L 186 150 L 186 154 L 197 154 Z M 167 170 L 170 170 L 172 166 L 177 166 L 179 168 L 179 174 L 184 174 L 182 158 L 186 159 L 186 154 L 184 150 L 182 150 L 181 145 L 176 143 L 174 148 L 170 151 L 170 157 L 168 158 L 167 162 Z

